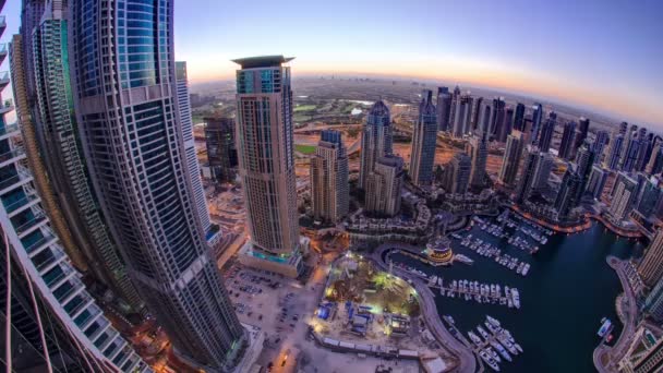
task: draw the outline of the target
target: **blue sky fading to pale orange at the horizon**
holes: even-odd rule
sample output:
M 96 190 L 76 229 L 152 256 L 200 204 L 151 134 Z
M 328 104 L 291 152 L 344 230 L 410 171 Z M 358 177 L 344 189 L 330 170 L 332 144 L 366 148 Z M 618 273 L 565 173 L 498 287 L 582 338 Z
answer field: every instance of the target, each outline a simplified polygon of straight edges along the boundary
M 20 0 L 3 9 L 17 31 Z M 663 130 L 661 0 L 174 0 L 193 83 L 231 59 L 294 56 L 294 76 L 437 80 L 587 107 Z M 0 69 L 7 70 L 7 62 Z

